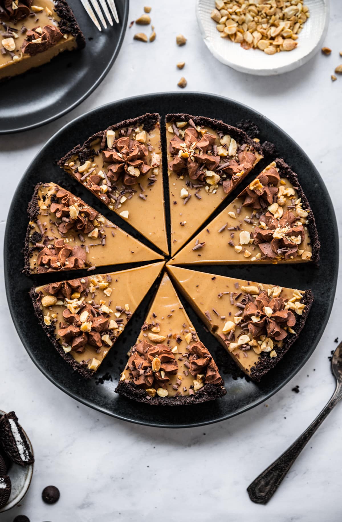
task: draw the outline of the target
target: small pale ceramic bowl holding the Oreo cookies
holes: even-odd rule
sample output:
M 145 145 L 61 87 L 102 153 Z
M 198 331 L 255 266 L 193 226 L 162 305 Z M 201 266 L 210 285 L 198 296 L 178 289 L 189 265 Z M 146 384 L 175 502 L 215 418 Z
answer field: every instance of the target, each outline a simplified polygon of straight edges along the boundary
M 0 417 L 2 417 L 5 414 L 5 411 L 0 410 Z M 22 428 L 22 426 L 21 426 Z M 27 438 L 27 442 L 29 443 L 31 453 L 33 455 L 33 449 L 32 444 L 30 442 L 29 437 L 25 433 L 25 430 L 22 430 Z M 12 507 L 19 504 L 19 502 L 22 501 L 23 497 L 28 492 L 28 489 L 31 484 L 33 474 L 33 464 L 30 464 L 29 466 L 21 467 L 17 464 L 12 464 L 9 471 L 8 476 L 10 478 L 12 489 L 10 492 L 10 496 L 8 499 L 8 502 L 5 506 L 0 508 L 0 513 L 4 513 L 5 511 L 8 511 L 8 509 L 11 509 Z

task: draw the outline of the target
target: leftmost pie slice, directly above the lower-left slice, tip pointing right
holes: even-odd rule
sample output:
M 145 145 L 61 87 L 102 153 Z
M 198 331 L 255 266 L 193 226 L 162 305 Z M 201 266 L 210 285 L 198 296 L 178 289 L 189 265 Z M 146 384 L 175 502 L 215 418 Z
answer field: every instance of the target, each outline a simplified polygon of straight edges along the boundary
M 28 275 L 162 259 L 56 183 L 36 186 L 28 213 Z

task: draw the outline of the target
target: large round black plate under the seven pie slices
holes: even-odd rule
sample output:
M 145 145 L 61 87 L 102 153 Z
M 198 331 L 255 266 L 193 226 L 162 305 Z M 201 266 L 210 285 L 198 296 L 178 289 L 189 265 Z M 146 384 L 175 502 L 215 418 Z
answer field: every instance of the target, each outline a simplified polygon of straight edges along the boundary
M 272 140 L 278 148 L 279 155 L 284 157 L 293 170 L 298 173 L 304 192 L 312 206 L 322 244 L 319 268 L 310 264 L 203 268 L 203 271 L 280 284 L 290 288 L 311 288 L 315 300 L 299 339 L 260 384 L 247 382 L 245 378 L 234 380 L 229 373 L 226 373 L 223 374 L 227 387 L 225 397 L 203 405 L 177 407 L 176 411 L 171 407 L 140 405 L 114 393 L 117 379 L 126 361 L 126 352 L 136 340 L 156 285 L 133 316 L 129 323 L 130 327 L 121 335 L 103 362 L 99 375 L 91 381 L 84 381 L 78 374 L 73 373 L 46 338 L 33 314 L 32 303 L 28 295 L 30 287 L 35 283 L 42 284 L 48 282 L 49 279 L 57 280 L 59 278 L 61 280 L 76 277 L 75 272 L 73 274 L 64 272 L 64 275 L 45 274 L 40 278 L 28 278 L 21 274 L 22 247 L 28 221 L 25 209 L 31 198 L 33 187 L 39 181 L 54 181 L 72 189 L 87 203 L 132 233 L 128 223 L 122 222 L 107 207 L 102 206 L 87 189 L 58 168 L 56 160 L 61 158 L 73 145 L 82 143 L 96 131 L 146 111 L 158 111 L 161 116 L 167 112 L 200 114 L 222 118 L 223 121 L 233 125 L 242 119 L 253 120 L 260 128 L 261 141 Z M 266 165 L 265 160 L 263 160 L 263 164 Z M 263 164 L 258 165 L 258 171 L 261 170 Z M 254 175 L 251 174 L 249 179 L 252 179 L 251 176 Z M 238 192 L 240 189 L 241 187 L 238 188 Z M 233 197 L 234 194 L 228 199 L 231 200 Z M 327 223 L 329 234 L 326 233 Z M 137 235 L 134 231 L 133 234 Z M 143 239 L 141 240 L 143 241 Z M 119 270 L 124 267 L 111 268 Z M 333 304 L 337 269 L 338 235 L 334 209 L 326 187 L 314 165 L 287 134 L 264 116 L 240 103 L 212 94 L 161 93 L 128 98 L 104 105 L 69 123 L 46 143 L 23 175 L 9 210 L 6 226 L 5 281 L 8 305 L 20 339 L 33 362 L 56 386 L 80 402 L 113 417 L 152 426 L 176 428 L 217 422 L 252 408 L 276 393 L 309 359 L 322 336 Z M 100 273 L 105 271 L 107 269 L 98 269 Z M 198 330 L 199 337 L 217 359 L 220 369 L 227 371 L 228 367 L 229 371 L 231 361 L 229 354 L 218 345 L 213 336 L 204 330 L 201 321 L 186 304 L 185 308 Z M 101 383 L 99 382 L 101 376 L 105 376 L 105 378 L 111 376 L 112 381 L 104 380 Z

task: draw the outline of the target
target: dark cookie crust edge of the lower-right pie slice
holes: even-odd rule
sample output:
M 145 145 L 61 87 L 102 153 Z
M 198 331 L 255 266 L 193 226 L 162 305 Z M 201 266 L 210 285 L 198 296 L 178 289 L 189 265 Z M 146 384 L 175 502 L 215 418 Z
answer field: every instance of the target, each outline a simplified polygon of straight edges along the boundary
M 305 304 L 305 308 L 302 315 L 296 315 L 296 334 L 291 334 L 291 337 L 287 336 L 283 342 L 281 348 L 277 347 L 277 357 L 273 359 L 269 357 L 268 352 L 262 352 L 260 360 L 251 368 L 250 377 L 253 381 L 260 381 L 260 379 L 271 370 L 282 357 L 284 357 L 285 353 L 288 349 L 293 345 L 294 341 L 298 339 L 298 336 L 303 329 L 306 318 L 311 309 L 311 305 L 313 303 L 313 294 L 311 290 L 306 290 L 302 302 Z

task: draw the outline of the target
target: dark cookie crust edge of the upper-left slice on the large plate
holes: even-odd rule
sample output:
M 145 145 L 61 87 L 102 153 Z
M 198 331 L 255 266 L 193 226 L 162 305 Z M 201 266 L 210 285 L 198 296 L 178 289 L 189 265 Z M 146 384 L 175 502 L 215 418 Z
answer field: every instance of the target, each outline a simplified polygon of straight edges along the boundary
M 84 163 L 89 158 L 93 158 L 95 155 L 95 150 L 91 147 L 92 143 L 97 139 L 102 140 L 103 136 L 107 134 L 107 131 L 117 131 L 123 127 L 143 125 L 144 130 L 146 132 L 150 132 L 155 128 L 159 120 L 160 117 L 158 113 L 150 114 L 147 112 L 143 116 L 138 116 L 137 118 L 124 120 L 120 123 L 116 123 L 115 125 L 111 125 L 110 127 L 104 129 L 104 131 L 99 131 L 96 134 L 90 136 L 90 138 L 88 138 L 83 145 L 76 145 L 76 147 L 67 152 L 67 154 L 57 162 L 57 165 L 63 168 L 64 163 L 69 161 L 69 159 L 75 155 L 79 157 L 81 163 Z

